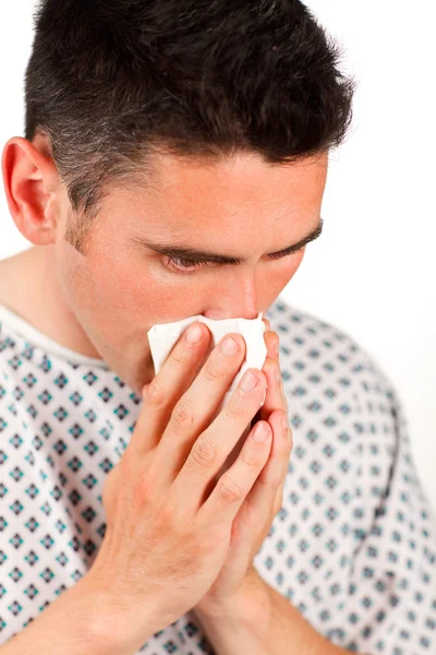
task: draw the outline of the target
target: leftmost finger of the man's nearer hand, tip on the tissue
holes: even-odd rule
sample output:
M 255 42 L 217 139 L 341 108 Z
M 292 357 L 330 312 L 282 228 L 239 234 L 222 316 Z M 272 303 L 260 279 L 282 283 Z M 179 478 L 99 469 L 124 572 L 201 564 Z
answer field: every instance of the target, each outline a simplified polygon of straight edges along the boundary
M 190 325 L 167 357 L 162 368 L 144 389 L 144 403 L 136 419 L 128 448 L 143 455 L 155 448 L 168 424 L 174 404 L 197 376 L 210 344 L 210 331 L 196 322 L 202 338 L 195 344 L 187 341 Z

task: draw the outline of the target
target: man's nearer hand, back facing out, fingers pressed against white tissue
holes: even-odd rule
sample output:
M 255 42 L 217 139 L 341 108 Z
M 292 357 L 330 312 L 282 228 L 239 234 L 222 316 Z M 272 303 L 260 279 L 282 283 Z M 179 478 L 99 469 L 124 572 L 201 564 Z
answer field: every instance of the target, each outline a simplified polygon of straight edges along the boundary
M 186 333 L 194 325 L 202 338 L 192 344 Z M 145 388 L 132 439 L 104 487 L 107 529 L 87 576 L 111 600 L 113 624 L 124 631 L 121 647 L 125 643 L 141 647 L 154 632 L 195 607 L 211 587 L 228 559 L 234 519 L 268 461 L 272 431 L 279 432 L 284 414 L 280 409 L 269 421 L 261 419 L 233 465 L 216 480 L 258 412 L 270 373 L 251 369 L 256 386 L 244 390 L 243 379 L 216 416 L 245 358 L 245 342 L 232 334 L 237 352 L 223 354 L 220 343 L 204 364 L 211 335 L 204 323 L 194 325 Z M 264 416 L 271 397 L 269 390 Z M 267 429 L 266 441 L 253 439 L 258 427 Z M 277 486 L 284 441 L 278 440 L 261 488 Z

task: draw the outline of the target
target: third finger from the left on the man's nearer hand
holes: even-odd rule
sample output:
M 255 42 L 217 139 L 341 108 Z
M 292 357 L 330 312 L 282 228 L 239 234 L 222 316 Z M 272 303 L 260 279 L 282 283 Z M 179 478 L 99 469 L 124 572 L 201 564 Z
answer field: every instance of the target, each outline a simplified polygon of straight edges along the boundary
M 253 373 L 257 379 L 256 386 L 244 390 L 245 382 Z M 173 488 L 179 489 L 183 495 L 183 503 L 190 515 L 201 508 L 206 487 L 238 445 L 241 434 L 261 405 L 265 386 L 266 379 L 263 372 L 249 369 L 232 393 L 229 403 L 193 444 L 173 483 Z M 268 430 L 270 430 L 269 426 Z

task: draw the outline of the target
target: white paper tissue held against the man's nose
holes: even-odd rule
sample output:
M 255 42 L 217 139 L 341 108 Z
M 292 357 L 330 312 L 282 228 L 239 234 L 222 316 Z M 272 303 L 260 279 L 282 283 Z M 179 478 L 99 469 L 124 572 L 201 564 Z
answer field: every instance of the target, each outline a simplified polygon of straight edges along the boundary
M 246 369 L 257 368 L 262 370 L 262 367 L 265 364 L 267 347 L 265 345 L 264 332 L 266 331 L 266 326 L 262 318 L 263 312 L 258 314 L 257 319 L 253 320 L 223 319 L 222 321 L 215 321 L 213 319 L 207 319 L 202 314 L 197 314 L 195 317 L 189 317 L 187 319 L 182 319 L 181 321 L 175 321 L 173 323 L 160 323 L 153 325 L 153 327 L 148 330 L 147 336 L 156 374 L 160 371 L 173 346 L 179 341 L 182 333 L 186 330 L 187 325 L 191 325 L 191 323 L 199 321 L 201 323 L 205 323 L 210 330 L 213 341 L 210 350 L 217 346 L 217 344 L 226 334 L 229 334 L 230 332 L 242 334 L 246 344 L 245 358 L 240 370 L 235 374 L 231 386 L 222 398 L 222 402 L 218 408 L 218 412 L 220 412 L 225 404 L 227 404 L 229 401 L 233 390 L 238 385 Z M 207 358 L 205 357 L 204 361 L 206 361 L 206 359 Z M 265 396 L 266 392 L 261 403 L 261 407 L 265 402 Z

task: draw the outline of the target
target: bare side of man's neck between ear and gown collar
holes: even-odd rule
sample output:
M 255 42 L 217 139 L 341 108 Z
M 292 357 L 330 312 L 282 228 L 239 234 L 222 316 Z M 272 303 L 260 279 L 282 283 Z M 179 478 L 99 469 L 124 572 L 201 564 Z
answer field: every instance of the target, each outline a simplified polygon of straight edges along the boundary
M 63 298 L 52 246 L 33 246 L 0 261 L 0 305 L 62 346 L 100 359 Z

